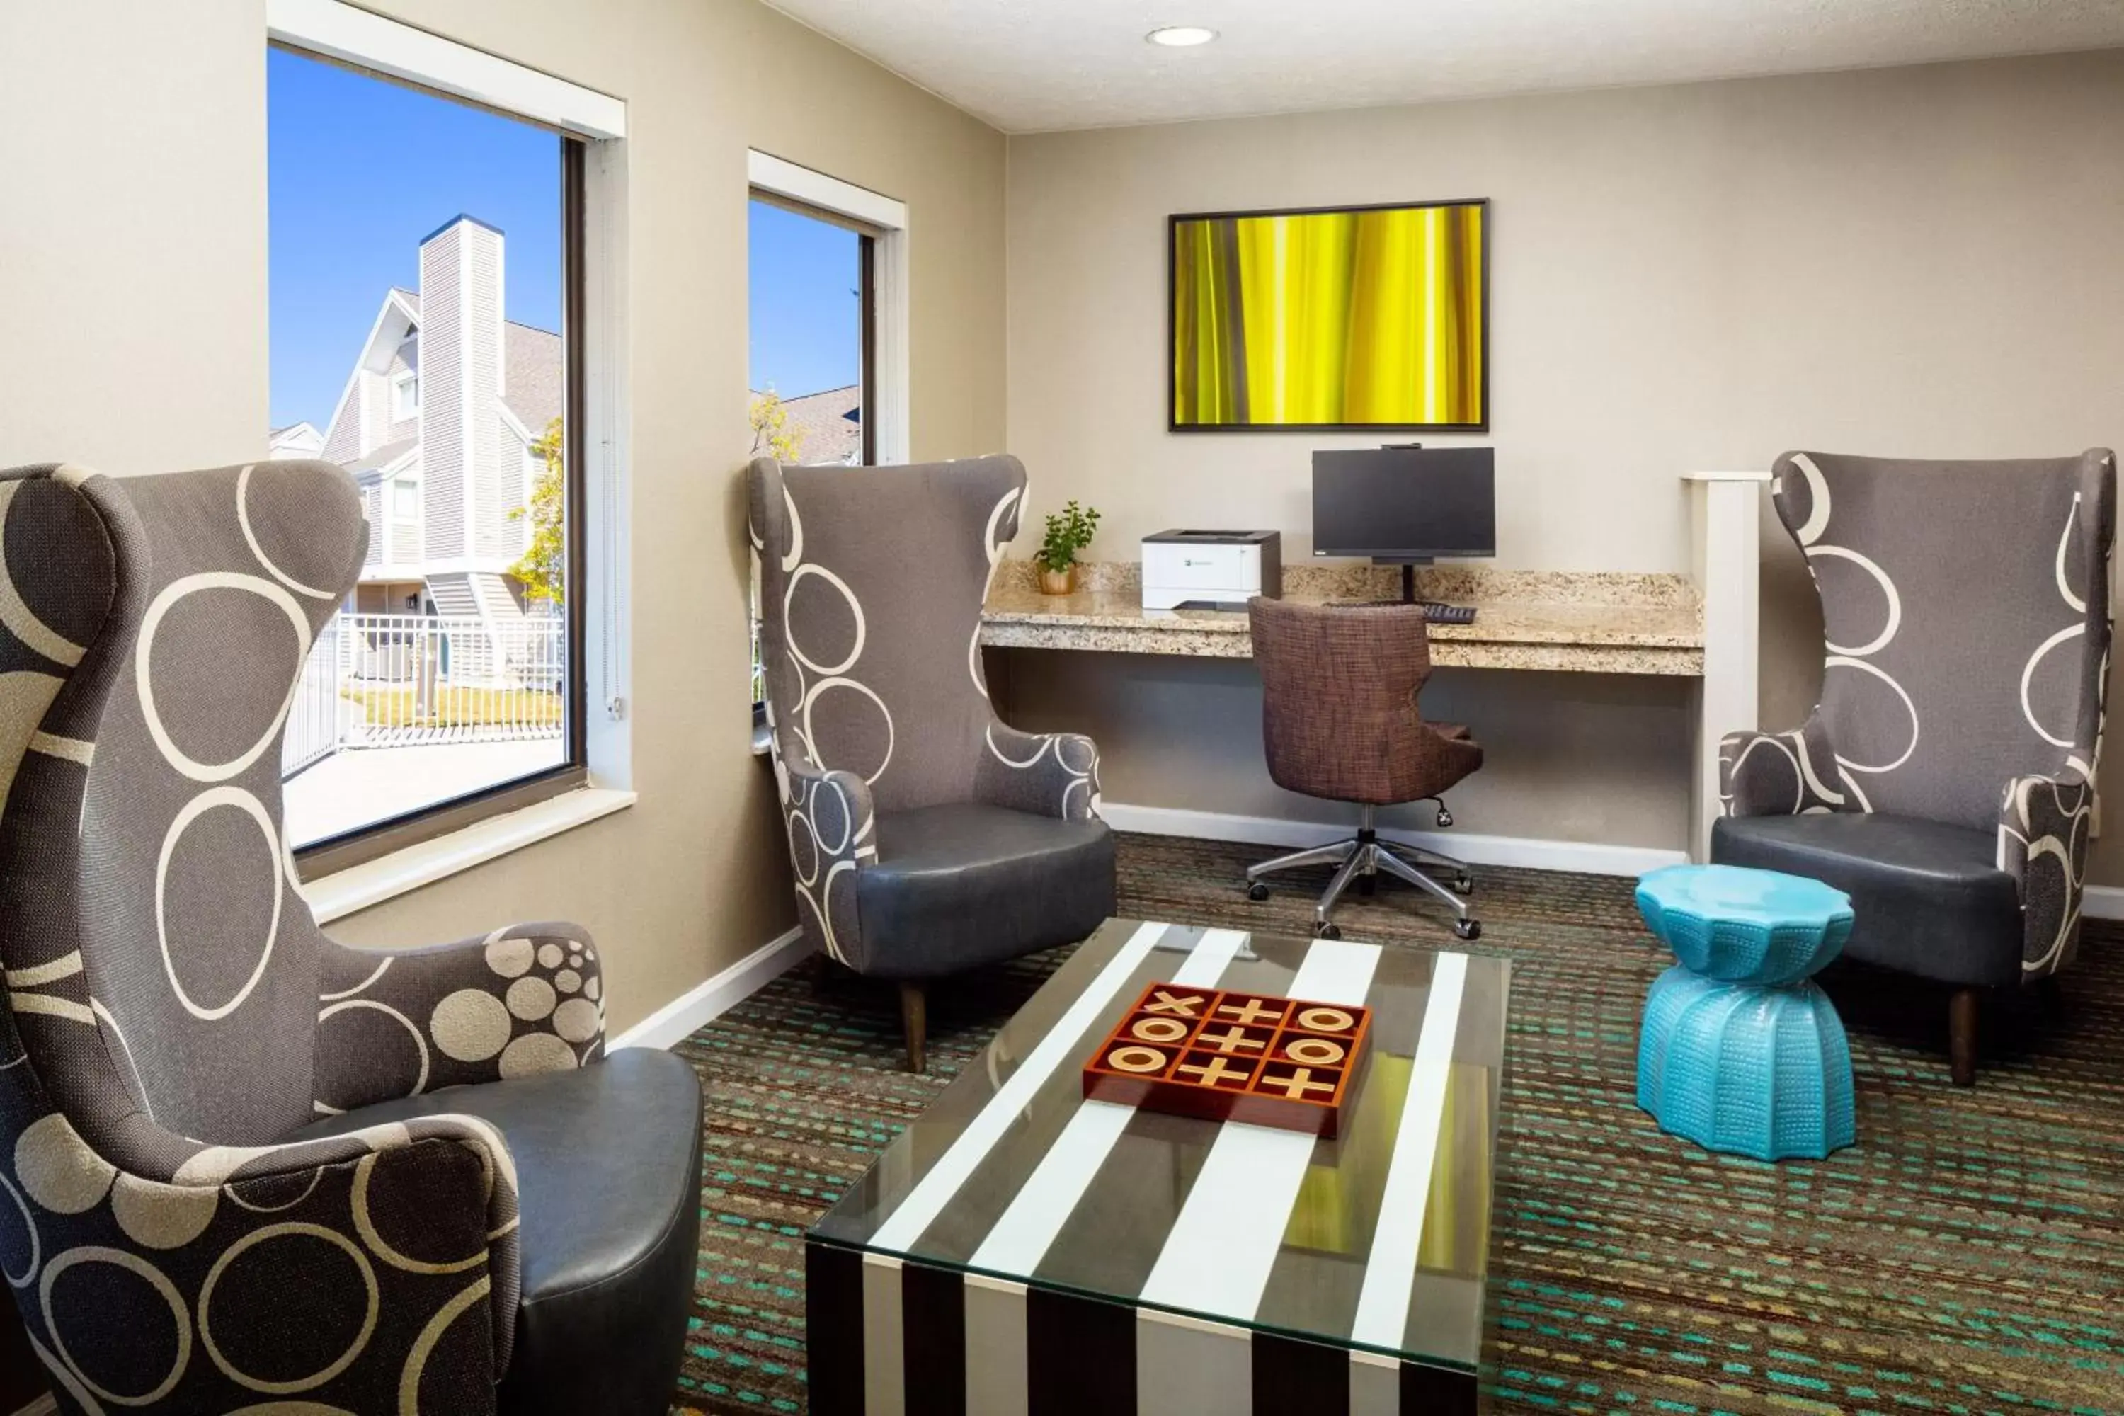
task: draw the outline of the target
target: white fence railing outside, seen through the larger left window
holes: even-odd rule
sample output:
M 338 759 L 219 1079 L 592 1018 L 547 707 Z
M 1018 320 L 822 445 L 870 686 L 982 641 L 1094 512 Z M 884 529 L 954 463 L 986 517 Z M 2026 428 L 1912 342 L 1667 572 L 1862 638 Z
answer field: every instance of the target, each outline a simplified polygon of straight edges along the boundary
M 561 737 L 561 618 L 338 614 L 287 715 L 280 775 L 336 752 Z

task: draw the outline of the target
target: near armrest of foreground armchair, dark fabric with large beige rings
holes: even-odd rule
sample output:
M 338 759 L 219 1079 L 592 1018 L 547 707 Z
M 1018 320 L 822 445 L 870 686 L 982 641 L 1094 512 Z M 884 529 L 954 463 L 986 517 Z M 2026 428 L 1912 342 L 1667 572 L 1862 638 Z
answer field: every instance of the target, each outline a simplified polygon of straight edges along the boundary
M 516 1170 L 495 1127 L 438 1115 L 274 1146 L 202 1146 L 140 1112 L 121 1127 L 134 1165 L 110 1163 L 57 1110 L 21 1127 L 0 1165 L 36 1216 L 25 1291 L 40 1282 L 47 1306 L 21 1312 L 79 1403 L 68 1410 L 104 1410 L 76 1374 L 138 1367 L 138 1344 L 172 1314 L 183 1337 L 142 1378 L 155 1410 L 249 1408 L 257 1382 L 312 1374 L 316 1410 L 395 1412 L 401 1382 L 421 1410 L 495 1410 L 520 1287 Z M 74 1263 L 130 1270 L 144 1306 L 115 1320 L 93 1291 L 55 1291 Z M 299 1374 L 287 1369 L 291 1314 L 333 1333 L 299 1346 L 314 1359 Z

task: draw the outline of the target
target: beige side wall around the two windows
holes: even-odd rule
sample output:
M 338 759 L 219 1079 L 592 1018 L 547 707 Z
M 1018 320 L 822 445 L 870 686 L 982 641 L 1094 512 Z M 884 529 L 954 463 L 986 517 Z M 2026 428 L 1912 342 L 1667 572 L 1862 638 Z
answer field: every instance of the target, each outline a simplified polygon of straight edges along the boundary
M 629 102 L 633 762 L 641 802 L 333 932 L 561 917 L 620 1030 L 794 921 L 746 673 L 746 149 L 909 206 L 913 450 L 1003 446 L 1003 136 L 752 0 L 372 8 Z M 0 6 L 0 465 L 266 446 L 261 0 Z

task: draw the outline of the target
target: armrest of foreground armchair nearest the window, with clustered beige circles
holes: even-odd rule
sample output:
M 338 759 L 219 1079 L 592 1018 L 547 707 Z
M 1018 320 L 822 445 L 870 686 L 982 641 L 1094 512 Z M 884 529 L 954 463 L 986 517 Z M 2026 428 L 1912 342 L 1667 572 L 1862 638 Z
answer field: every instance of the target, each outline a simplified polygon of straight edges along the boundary
M 327 1115 L 565 1072 L 605 1051 L 605 979 L 573 923 L 514 923 L 399 953 L 329 945 L 319 994 L 316 1106 Z

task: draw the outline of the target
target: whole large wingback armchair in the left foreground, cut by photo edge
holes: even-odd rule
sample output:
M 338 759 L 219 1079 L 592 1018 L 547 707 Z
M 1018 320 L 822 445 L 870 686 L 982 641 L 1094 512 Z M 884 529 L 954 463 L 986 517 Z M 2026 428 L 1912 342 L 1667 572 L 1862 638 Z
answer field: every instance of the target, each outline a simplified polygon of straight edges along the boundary
M 588 936 L 325 938 L 280 735 L 344 471 L 0 471 L 0 1274 L 59 1408 L 663 1412 L 699 1083 Z M 597 1066 L 590 1066 L 597 1064 Z

